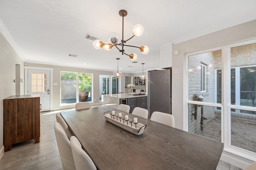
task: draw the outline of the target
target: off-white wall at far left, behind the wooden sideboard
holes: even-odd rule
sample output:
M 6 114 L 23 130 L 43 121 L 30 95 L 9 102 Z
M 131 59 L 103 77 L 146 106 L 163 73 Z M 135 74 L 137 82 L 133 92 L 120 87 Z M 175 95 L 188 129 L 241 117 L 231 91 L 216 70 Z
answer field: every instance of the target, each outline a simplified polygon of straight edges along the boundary
M 16 95 L 16 64 L 20 64 L 20 78 L 24 80 L 24 62 L 0 34 L 0 159 L 4 153 L 4 105 L 3 99 Z M 20 80 L 17 80 L 20 81 Z M 24 81 L 20 83 L 20 94 L 24 94 Z

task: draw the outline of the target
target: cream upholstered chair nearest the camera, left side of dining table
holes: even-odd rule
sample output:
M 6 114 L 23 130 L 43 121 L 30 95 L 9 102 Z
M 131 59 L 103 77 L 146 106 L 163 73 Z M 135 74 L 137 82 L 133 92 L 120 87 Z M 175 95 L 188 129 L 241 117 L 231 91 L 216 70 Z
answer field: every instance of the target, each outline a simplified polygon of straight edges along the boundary
M 82 149 L 82 146 L 76 136 L 70 138 L 72 154 L 76 170 L 96 170 L 90 156 Z

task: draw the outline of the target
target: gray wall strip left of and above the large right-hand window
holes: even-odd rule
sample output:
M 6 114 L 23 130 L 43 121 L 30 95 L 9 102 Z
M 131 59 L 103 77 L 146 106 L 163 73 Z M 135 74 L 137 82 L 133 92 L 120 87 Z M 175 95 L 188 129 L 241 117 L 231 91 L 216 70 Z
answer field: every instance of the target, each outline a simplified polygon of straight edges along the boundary
M 186 114 L 186 94 L 184 93 L 186 53 L 218 47 L 250 38 L 256 38 L 256 20 L 213 32 L 186 42 L 172 44 L 172 51 L 180 51 L 178 55 L 172 55 L 172 115 L 175 118 L 176 128 L 185 128 L 183 118 L 184 114 Z

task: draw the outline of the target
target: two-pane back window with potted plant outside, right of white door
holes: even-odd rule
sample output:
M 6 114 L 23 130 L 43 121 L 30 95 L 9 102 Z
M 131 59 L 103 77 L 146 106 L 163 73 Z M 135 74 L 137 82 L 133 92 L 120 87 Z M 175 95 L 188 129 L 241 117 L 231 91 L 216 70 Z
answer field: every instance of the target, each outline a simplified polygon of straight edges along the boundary
M 60 74 L 60 104 L 92 101 L 92 74 L 64 71 Z

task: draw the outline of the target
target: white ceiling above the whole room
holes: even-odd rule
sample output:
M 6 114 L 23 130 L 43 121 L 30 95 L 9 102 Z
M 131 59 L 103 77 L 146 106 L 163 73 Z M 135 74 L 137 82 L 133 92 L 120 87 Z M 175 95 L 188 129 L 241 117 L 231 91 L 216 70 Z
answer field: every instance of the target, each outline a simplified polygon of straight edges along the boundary
M 95 49 L 84 38 L 89 33 L 107 42 L 108 34 L 116 32 L 120 42 L 122 9 L 128 12 L 125 40 L 135 24 L 144 27 L 142 36 L 126 44 L 147 45 L 149 53 L 124 48 L 138 55 L 138 63 L 114 47 Z M 116 71 L 120 58 L 119 71 L 137 73 L 142 72 L 141 63 L 144 70 L 160 67 L 161 45 L 255 20 L 255 9 L 255 0 L 0 0 L 0 32 L 24 62 Z

